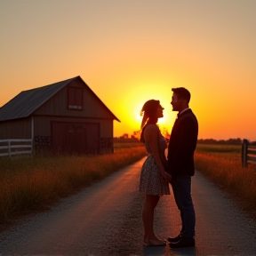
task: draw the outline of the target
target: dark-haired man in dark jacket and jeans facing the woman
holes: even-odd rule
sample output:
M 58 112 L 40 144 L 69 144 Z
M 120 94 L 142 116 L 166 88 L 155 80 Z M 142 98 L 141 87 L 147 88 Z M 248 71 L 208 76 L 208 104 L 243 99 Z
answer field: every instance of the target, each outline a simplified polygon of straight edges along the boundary
M 182 228 L 179 236 L 169 237 L 171 248 L 195 246 L 196 214 L 191 196 L 191 176 L 195 174 L 194 152 L 196 149 L 198 123 L 188 107 L 190 92 L 172 88 L 172 111 L 179 111 L 172 127 L 168 146 L 166 172 L 172 175 L 172 191 L 180 210 Z

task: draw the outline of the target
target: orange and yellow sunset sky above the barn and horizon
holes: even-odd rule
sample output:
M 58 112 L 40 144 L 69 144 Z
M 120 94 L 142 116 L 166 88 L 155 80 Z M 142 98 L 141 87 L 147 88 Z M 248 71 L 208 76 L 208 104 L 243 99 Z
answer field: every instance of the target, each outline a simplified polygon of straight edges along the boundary
M 81 76 L 140 130 L 160 100 L 171 132 L 172 87 L 191 92 L 198 139 L 256 140 L 255 0 L 0 0 L 0 106 L 21 91 Z

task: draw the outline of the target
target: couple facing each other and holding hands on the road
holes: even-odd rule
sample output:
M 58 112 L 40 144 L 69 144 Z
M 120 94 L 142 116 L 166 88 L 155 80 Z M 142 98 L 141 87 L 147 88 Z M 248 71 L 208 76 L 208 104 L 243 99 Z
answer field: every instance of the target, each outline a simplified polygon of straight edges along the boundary
M 167 241 L 154 233 L 154 210 L 160 196 L 170 195 L 172 186 L 175 202 L 180 210 L 182 228 L 176 237 L 168 237 L 171 248 L 195 246 L 196 214 L 191 196 L 191 177 L 195 174 L 194 152 L 196 149 L 198 123 L 188 107 L 190 92 L 186 88 L 172 88 L 172 111 L 178 111 L 172 127 L 167 159 L 164 150 L 166 140 L 157 124 L 163 117 L 163 107 L 159 100 L 148 100 L 141 109 L 142 141 L 148 157 L 140 173 L 140 191 L 145 193 L 142 210 L 145 246 L 161 246 Z

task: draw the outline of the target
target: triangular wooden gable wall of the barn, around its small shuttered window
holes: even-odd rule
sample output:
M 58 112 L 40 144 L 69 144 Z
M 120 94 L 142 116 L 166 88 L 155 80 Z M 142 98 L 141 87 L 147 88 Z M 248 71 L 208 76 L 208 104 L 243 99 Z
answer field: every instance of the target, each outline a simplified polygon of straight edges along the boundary
M 68 86 L 83 88 L 83 109 L 68 109 Z M 47 100 L 43 106 L 36 110 L 34 115 L 109 118 L 113 120 L 108 108 L 100 102 L 81 79 L 72 81 L 68 86 Z

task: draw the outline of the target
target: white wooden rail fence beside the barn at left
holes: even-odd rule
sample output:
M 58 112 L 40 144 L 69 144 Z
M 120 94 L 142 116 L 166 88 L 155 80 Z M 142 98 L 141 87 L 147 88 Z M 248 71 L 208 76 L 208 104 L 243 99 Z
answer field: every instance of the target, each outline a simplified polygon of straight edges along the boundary
M 31 139 L 0 140 L 0 156 L 32 156 L 33 144 Z

